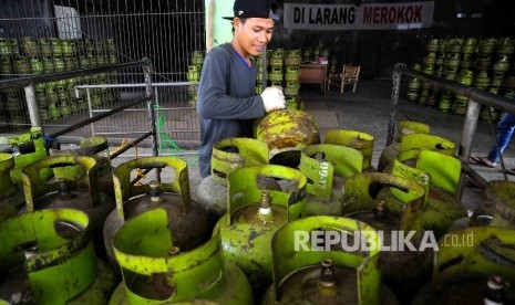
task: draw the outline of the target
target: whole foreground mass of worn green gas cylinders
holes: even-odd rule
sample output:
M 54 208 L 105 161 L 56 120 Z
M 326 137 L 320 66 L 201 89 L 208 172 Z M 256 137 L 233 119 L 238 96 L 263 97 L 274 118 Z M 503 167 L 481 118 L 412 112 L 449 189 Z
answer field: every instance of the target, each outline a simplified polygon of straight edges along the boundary
M 515 304 L 514 183 L 470 210 L 455 144 L 398 126 L 375 168 L 372 135 L 274 112 L 195 188 L 176 157 L 113 167 L 102 137 L 9 138 L 0 304 Z

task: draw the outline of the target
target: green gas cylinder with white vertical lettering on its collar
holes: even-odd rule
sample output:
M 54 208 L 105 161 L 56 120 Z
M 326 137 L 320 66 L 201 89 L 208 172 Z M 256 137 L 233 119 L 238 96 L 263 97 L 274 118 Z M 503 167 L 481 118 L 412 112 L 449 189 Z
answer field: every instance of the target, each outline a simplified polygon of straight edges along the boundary
M 362 154 L 350 147 L 320 144 L 302 149 L 299 170 L 308 178 L 305 215 L 341 215 L 344 180 L 361 173 Z

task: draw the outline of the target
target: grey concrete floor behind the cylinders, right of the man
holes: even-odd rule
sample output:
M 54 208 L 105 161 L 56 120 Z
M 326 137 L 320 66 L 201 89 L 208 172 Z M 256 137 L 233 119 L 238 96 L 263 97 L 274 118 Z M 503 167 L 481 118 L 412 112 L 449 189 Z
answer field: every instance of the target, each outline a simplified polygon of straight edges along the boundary
M 396 122 L 401 119 L 414 120 L 431 126 L 431 134 L 444 137 L 460 146 L 463 135 L 464 117 L 454 113 L 443 113 L 437 108 L 410 102 L 405 98 L 405 90 L 400 92 L 400 99 L 396 108 Z M 388 124 L 390 119 L 392 95 L 392 81 L 390 80 L 362 80 L 356 93 L 350 87 L 340 94 L 338 87 L 332 87 L 323 95 L 317 86 L 303 86 L 300 96 L 305 102 L 308 112 L 313 113 L 322 122 L 320 134 L 334 126 L 326 127 L 323 122 L 328 117 L 336 115 L 338 125 L 336 128 L 353 129 L 370 134 L 374 137 L 374 150 L 372 166 L 377 167 L 379 157 L 385 148 Z M 325 113 L 326 112 L 326 113 Z M 330 120 L 330 119 L 329 119 Z M 485 156 L 493 145 L 495 145 L 496 123 L 478 122 L 474 136 L 472 154 Z M 509 146 L 504 154 L 504 165 L 506 168 L 515 167 L 515 150 Z M 505 177 L 497 168 L 486 168 L 471 164 L 471 167 L 480 173 L 486 181 L 504 180 Z M 514 181 L 515 177 L 507 176 L 507 180 Z M 478 188 L 464 188 L 462 202 L 473 210 L 483 202 L 484 191 Z

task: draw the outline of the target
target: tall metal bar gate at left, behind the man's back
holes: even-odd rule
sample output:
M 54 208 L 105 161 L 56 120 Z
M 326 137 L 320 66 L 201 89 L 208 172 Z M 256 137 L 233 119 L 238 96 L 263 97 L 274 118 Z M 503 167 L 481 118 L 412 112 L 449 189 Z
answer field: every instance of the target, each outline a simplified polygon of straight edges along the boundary
M 199 125 L 187 70 L 205 50 L 202 0 L 0 0 L 1 77 L 74 71 L 150 59 L 158 133 L 169 147 L 196 147 Z M 72 78 L 37 87 L 45 133 L 112 109 L 141 91 L 141 71 Z M 0 94 L 0 133 L 27 130 L 22 90 Z M 146 125 L 146 108 L 92 128 L 110 143 Z M 81 137 L 81 134 L 75 134 Z M 163 146 L 163 143 L 162 143 Z

